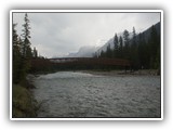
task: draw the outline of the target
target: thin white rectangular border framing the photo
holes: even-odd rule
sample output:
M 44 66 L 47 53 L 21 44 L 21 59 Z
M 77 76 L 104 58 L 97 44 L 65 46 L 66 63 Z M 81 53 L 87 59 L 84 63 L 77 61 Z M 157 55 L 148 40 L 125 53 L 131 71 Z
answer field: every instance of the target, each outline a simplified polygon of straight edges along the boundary
M 12 117 L 12 24 L 13 13 L 160 13 L 161 23 L 161 117 L 160 118 L 13 118 Z M 10 119 L 11 120 L 163 120 L 163 10 L 11 10 L 10 11 Z

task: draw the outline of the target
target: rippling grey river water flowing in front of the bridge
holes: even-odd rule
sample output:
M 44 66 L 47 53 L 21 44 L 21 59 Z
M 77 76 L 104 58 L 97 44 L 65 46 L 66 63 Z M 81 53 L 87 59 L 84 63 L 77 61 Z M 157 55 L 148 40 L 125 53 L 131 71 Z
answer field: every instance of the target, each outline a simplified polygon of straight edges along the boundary
M 34 81 L 38 117 L 160 117 L 158 76 L 101 76 L 59 72 Z

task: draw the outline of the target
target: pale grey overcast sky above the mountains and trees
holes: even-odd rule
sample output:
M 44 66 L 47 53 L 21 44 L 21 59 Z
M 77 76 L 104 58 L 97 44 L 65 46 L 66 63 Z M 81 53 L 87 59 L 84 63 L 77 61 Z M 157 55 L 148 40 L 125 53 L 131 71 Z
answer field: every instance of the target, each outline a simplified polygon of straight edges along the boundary
M 21 35 L 25 13 L 13 13 Z M 103 46 L 124 29 L 143 31 L 160 21 L 160 13 L 28 13 L 31 47 L 39 54 L 65 56 L 85 46 Z

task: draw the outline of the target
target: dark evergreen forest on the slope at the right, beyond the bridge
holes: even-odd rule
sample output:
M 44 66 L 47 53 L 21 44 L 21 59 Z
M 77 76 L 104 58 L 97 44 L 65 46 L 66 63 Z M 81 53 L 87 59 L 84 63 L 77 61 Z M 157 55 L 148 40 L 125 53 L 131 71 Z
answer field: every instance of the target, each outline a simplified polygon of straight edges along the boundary
M 148 32 L 136 35 L 133 27 L 132 37 L 127 29 L 122 36 L 115 34 L 114 49 L 109 43 L 106 51 L 102 50 L 94 56 L 129 60 L 132 69 L 160 69 L 160 31 L 152 25 Z

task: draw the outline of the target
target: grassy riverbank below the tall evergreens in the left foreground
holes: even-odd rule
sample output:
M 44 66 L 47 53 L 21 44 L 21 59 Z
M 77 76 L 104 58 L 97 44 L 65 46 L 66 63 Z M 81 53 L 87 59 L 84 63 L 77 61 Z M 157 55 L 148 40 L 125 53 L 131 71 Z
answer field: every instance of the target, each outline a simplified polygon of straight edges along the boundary
M 12 118 L 36 118 L 39 110 L 39 103 L 32 94 L 36 89 L 34 75 L 27 75 L 21 83 L 13 83 Z

